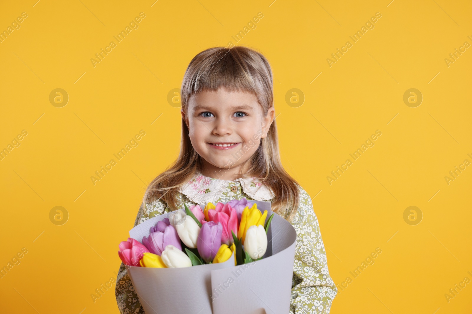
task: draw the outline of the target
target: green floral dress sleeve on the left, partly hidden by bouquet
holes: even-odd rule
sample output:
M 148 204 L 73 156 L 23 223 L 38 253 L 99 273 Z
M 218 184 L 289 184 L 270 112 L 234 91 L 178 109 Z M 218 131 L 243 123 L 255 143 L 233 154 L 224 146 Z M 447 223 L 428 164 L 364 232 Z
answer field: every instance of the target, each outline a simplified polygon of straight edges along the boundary
M 141 207 L 138 210 L 134 226 L 168 211 L 169 207 L 163 201 L 153 201 L 151 204 L 146 203 L 145 209 Z M 136 240 L 141 241 L 141 239 Z M 131 283 L 131 279 L 129 279 L 128 270 L 123 263 L 121 263 L 118 270 L 115 296 L 121 314 L 144 314 L 143 306 L 139 302 L 139 297 Z

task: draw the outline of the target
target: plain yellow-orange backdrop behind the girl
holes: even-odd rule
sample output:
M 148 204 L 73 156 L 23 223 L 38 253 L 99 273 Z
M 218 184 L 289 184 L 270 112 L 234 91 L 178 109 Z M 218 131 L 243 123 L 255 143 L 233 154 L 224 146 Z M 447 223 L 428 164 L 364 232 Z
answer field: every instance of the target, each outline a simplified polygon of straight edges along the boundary
M 27 253 L 0 279 L 2 313 L 118 313 L 114 287 L 91 294 L 116 278 L 145 187 L 177 157 L 181 116 L 169 92 L 192 57 L 229 42 L 273 68 L 282 160 L 313 197 L 329 273 L 344 287 L 331 313 L 470 313 L 472 284 L 445 297 L 472 280 L 472 167 L 445 179 L 472 161 L 471 48 L 445 61 L 472 44 L 470 1 L 13 1 L 0 31 L 22 12 L 0 42 L 0 149 L 19 143 L 0 161 L 0 267 Z M 93 66 L 140 12 L 138 28 Z M 50 102 L 58 88 L 65 105 Z M 412 88 L 421 104 L 404 102 Z M 375 145 L 329 184 L 376 130 Z M 65 210 L 54 218 L 56 206 Z

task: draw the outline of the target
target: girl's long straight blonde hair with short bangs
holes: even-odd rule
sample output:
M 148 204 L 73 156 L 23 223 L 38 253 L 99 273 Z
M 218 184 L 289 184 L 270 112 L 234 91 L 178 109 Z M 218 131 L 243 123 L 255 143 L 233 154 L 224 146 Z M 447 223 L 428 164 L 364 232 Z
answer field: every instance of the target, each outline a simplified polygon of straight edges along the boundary
M 192 95 L 219 88 L 253 93 L 262 106 L 264 116 L 274 105 L 270 64 L 261 53 L 251 48 L 214 47 L 194 56 L 182 82 L 182 110 L 187 113 Z M 176 210 L 180 187 L 191 180 L 197 171 L 202 171 L 201 157 L 194 150 L 188 134 L 189 129 L 182 119 L 179 156 L 167 170 L 152 180 L 143 197 L 143 208 L 146 202 L 161 199 L 171 210 Z M 285 171 L 280 161 L 275 119 L 267 137 L 261 138 L 249 162 L 248 173 L 241 174 L 241 177 L 258 177 L 262 184 L 269 187 L 275 194 L 272 211 L 288 220 L 298 207 L 298 183 Z

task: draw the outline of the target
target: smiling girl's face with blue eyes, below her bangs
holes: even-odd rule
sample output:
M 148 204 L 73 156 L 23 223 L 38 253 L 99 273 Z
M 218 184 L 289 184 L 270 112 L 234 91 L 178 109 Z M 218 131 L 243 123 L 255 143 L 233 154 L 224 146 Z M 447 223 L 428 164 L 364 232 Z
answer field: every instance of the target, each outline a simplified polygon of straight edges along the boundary
M 187 113 L 181 112 L 190 141 L 203 159 L 202 173 L 225 180 L 243 173 L 275 116 L 274 107 L 264 115 L 252 93 L 223 88 L 193 95 Z

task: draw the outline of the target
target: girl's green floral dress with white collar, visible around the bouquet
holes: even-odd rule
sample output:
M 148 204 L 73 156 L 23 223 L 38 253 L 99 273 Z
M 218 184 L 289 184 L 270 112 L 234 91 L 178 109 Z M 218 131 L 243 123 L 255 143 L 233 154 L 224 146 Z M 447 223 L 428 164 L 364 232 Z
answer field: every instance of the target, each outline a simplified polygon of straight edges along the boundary
M 329 276 L 326 251 L 312 200 L 302 187 L 299 187 L 299 191 L 300 203 L 291 222 L 295 227 L 297 238 L 289 313 L 329 313 L 337 288 Z M 179 207 L 183 208 L 183 202 L 189 207 L 196 204 L 204 206 L 208 202 L 240 200 L 243 197 L 248 201 L 271 201 L 274 194 L 254 177 L 228 181 L 197 173 L 192 180 L 182 186 L 178 201 L 181 204 Z M 142 207 L 139 209 L 135 225 L 170 211 L 163 201 L 152 201 L 145 205 L 144 209 Z M 123 263 L 118 272 L 115 294 L 120 313 L 144 313 Z

